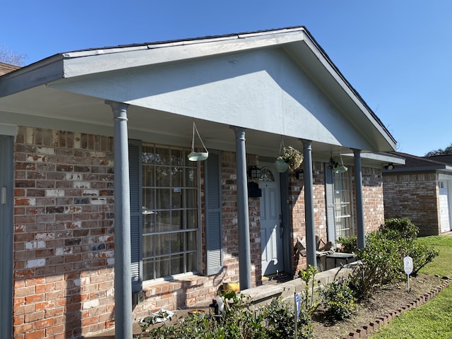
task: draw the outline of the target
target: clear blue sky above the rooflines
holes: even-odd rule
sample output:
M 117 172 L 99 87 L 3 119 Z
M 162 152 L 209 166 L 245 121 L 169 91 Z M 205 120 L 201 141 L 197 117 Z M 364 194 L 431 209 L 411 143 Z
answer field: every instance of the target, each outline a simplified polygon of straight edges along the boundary
M 2 0 L 0 45 L 60 52 L 304 25 L 398 141 L 452 143 L 449 0 Z M 6 14 L 6 15 L 5 15 Z

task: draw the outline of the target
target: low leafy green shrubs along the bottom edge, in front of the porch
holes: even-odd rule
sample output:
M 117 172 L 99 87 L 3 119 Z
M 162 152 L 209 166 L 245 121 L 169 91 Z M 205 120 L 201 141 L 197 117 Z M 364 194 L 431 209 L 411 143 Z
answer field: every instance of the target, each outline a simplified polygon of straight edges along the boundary
M 281 299 L 256 309 L 251 299 L 240 293 L 222 294 L 225 310 L 220 317 L 186 316 L 167 326 L 155 325 L 151 317 L 141 326 L 136 338 L 153 339 L 276 339 L 293 338 L 295 335 L 295 308 L 293 303 Z M 153 326 L 151 326 L 153 325 Z M 300 311 L 297 321 L 297 337 L 313 338 L 309 312 Z

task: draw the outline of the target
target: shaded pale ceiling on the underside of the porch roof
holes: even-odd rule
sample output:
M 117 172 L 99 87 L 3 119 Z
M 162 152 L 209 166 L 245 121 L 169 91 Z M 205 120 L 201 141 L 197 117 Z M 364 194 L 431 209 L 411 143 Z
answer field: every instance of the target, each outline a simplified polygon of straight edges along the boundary
M 20 102 L 20 105 L 18 105 Z M 81 131 L 113 136 L 113 114 L 105 100 L 69 93 L 44 85 L 0 98 L 1 123 L 19 126 Z M 14 114 L 11 114 L 14 113 Z M 130 105 L 128 109 L 129 138 L 190 147 L 193 119 L 179 114 L 160 112 Z M 196 127 L 209 149 L 235 150 L 234 132 L 229 125 L 196 119 Z M 276 157 L 281 136 L 253 129 L 246 130 L 246 150 L 261 156 Z M 284 137 L 285 145 L 302 149 L 297 138 Z M 196 137 L 196 146 L 201 146 Z M 316 157 L 329 157 L 338 147 L 313 143 Z

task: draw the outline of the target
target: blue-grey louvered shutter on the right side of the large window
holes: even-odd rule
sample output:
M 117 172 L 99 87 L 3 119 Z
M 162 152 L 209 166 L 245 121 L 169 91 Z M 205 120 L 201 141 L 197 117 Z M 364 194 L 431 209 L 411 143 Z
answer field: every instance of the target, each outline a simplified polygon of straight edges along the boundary
M 220 155 L 209 151 L 204 162 L 206 187 L 206 258 L 207 275 L 220 272 L 222 268 L 221 237 L 221 163 Z

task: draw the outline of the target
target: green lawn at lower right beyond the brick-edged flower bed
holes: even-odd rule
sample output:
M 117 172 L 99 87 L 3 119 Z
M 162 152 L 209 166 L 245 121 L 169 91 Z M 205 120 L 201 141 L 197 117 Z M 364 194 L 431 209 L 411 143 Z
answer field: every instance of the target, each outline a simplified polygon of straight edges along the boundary
M 439 251 L 439 256 L 422 268 L 421 273 L 452 278 L 452 237 L 421 237 L 419 242 Z M 452 284 L 427 304 L 398 316 L 369 338 L 452 338 Z

